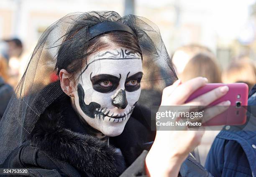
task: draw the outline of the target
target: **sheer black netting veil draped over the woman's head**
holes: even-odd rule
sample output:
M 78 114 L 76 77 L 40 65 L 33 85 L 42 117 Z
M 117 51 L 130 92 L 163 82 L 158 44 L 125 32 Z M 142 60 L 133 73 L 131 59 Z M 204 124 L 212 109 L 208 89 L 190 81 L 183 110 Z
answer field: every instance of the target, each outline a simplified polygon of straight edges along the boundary
M 63 93 L 59 81 L 51 79 L 53 74 L 58 73 L 57 61 L 66 63 L 67 60 L 77 59 L 80 62 L 77 66 L 82 72 L 86 67 L 88 41 L 91 38 L 88 28 L 105 21 L 128 25 L 138 38 L 144 73 L 138 105 L 143 103 L 145 109 L 150 109 L 153 104 L 160 104 L 161 94 L 158 93 L 177 80 L 177 76 L 159 29 L 154 23 L 135 15 L 121 17 L 111 11 L 68 14 L 49 26 L 41 35 L 0 121 L 0 164 L 26 141 L 39 116 Z

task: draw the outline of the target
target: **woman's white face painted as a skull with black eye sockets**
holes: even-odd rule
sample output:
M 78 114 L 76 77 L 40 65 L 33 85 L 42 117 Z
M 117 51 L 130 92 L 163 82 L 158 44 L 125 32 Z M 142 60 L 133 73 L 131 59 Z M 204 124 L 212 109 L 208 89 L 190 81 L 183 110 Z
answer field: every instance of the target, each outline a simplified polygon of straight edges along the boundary
M 74 94 L 82 118 L 103 134 L 123 132 L 141 94 L 142 60 L 138 53 L 114 48 L 87 58 Z

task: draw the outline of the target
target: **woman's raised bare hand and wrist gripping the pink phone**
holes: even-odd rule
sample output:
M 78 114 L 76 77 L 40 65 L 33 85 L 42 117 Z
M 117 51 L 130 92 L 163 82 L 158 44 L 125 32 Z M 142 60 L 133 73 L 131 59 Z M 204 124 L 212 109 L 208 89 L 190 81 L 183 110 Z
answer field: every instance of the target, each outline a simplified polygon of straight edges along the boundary
M 198 88 L 205 86 L 207 78 L 197 77 L 187 82 L 180 80 L 164 88 L 161 106 L 207 106 L 228 92 L 228 86 L 215 88 L 185 103 Z M 225 111 L 230 101 L 223 101 L 218 106 L 205 109 L 207 120 Z M 177 118 L 178 119 L 178 118 Z M 204 131 L 156 131 L 155 141 L 146 157 L 146 169 L 151 177 L 176 177 L 182 162 L 189 152 L 197 147 Z

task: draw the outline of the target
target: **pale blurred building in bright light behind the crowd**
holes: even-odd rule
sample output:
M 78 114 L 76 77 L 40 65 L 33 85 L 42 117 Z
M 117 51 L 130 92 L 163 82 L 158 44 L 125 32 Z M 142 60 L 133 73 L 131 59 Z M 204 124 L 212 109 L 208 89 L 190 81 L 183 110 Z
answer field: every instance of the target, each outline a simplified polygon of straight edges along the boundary
M 159 26 L 170 54 L 179 46 L 199 43 L 209 47 L 225 68 L 233 56 L 248 52 L 248 45 L 243 40 L 254 38 L 254 28 L 252 37 L 245 36 L 248 34 L 248 12 L 254 1 L 1 0 L 0 39 L 18 37 L 25 51 L 31 53 L 41 33 L 68 13 L 113 10 L 124 15 L 134 12 Z

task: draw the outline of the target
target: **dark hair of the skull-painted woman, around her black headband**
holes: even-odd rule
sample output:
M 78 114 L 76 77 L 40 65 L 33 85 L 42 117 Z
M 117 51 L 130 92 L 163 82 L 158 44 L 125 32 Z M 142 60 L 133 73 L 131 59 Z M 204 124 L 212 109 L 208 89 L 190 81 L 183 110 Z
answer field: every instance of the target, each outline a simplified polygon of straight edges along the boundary
M 87 57 L 93 53 L 104 50 L 111 46 L 119 46 L 137 52 L 142 57 L 141 48 L 136 36 L 124 31 L 111 31 L 86 40 L 86 33 L 82 35 L 83 29 L 69 34 L 59 49 L 55 69 L 57 74 L 61 69 L 73 74 L 81 70 Z M 85 40 L 85 41 L 84 41 Z

